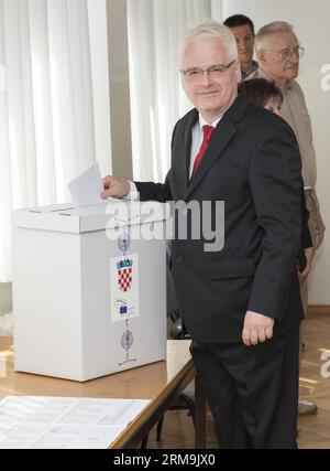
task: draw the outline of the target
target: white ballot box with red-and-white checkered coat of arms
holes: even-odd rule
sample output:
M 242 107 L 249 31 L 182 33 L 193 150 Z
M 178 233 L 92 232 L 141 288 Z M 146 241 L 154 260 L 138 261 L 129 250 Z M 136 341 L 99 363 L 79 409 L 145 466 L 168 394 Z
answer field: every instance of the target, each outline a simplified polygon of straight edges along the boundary
M 15 371 L 76 381 L 164 360 L 168 206 L 14 212 Z

